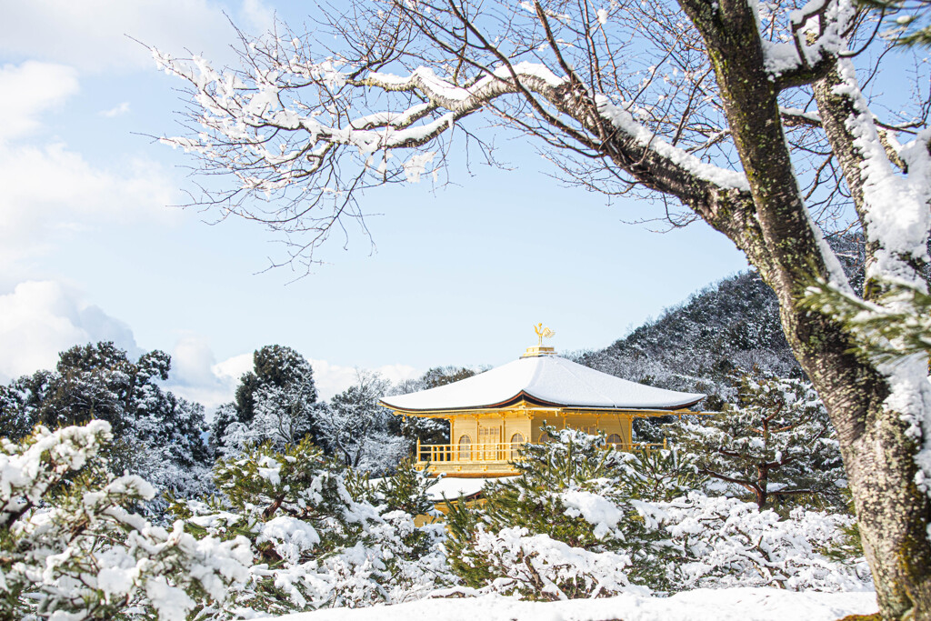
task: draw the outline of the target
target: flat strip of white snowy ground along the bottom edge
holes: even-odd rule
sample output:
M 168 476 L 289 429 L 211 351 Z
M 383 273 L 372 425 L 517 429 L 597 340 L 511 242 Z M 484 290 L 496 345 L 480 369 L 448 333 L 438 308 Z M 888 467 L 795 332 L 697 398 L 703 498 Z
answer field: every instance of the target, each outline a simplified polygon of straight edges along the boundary
M 498 595 L 420 600 L 394 606 L 330 608 L 287 621 L 835 621 L 878 610 L 873 592 L 816 593 L 775 588 L 701 588 L 670 598 L 621 595 L 602 600 L 516 601 Z

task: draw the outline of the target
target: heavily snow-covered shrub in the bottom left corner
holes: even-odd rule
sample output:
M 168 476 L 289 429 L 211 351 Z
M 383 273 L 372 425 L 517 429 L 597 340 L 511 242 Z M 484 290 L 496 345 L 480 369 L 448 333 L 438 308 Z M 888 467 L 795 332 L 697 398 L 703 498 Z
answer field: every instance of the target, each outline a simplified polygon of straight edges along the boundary
M 245 578 L 243 537 L 197 540 L 128 510 L 155 490 L 109 473 L 111 439 L 100 420 L 0 439 L 0 617 L 112 618 L 132 605 L 181 620 Z

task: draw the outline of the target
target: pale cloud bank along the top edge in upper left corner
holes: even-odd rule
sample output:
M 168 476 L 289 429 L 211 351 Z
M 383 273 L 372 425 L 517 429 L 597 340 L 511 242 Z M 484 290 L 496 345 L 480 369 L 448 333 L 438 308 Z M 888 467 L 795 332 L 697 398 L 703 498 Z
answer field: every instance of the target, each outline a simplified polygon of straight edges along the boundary
M 232 11 L 210 0 L 6 3 L 0 51 L 67 62 L 92 72 L 154 67 L 148 50 L 138 42 L 174 53 L 190 49 L 223 61 L 230 57 L 227 46 L 234 35 L 224 11 L 247 30 L 264 30 L 271 14 L 261 0 L 244 0 Z

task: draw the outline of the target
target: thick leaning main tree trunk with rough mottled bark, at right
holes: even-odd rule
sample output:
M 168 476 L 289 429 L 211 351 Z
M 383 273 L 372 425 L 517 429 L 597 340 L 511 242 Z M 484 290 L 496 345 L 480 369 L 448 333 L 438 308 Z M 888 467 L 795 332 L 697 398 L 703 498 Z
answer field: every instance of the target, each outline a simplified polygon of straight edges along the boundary
M 918 440 L 886 408 L 890 378 L 851 353 L 837 321 L 799 305 L 816 278 L 829 279 L 830 259 L 792 171 L 756 20 L 746 0 L 681 5 L 708 47 L 762 229 L 762 239 L 732 239 L 776 291 L 789 344 L 837 428 L 880 610 L 889 619 L 931 619 L 931 504 L 915 483 Z

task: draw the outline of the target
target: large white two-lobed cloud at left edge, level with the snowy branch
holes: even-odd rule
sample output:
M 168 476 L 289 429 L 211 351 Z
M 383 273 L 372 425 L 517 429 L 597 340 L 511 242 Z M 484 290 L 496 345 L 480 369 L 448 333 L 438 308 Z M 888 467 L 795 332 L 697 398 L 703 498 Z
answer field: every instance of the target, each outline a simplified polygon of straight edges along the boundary
M 181 217 L 166 209 L 178 202 L 177 183 L 151 160 L 124 157 L 102 169 L 63 142 L 22 140 L 77 90 L 74 70 L 62 65 L 0 68 L 0 263 L 42 254 L 61 236 L 97 224 Z

